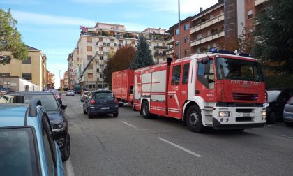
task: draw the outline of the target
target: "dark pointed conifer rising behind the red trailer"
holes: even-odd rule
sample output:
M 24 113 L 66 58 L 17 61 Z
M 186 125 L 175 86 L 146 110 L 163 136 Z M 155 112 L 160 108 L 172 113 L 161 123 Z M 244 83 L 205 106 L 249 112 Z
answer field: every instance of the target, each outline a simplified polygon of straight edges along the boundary
M 155 64 L 151 50 L 149 50 L 147 39 L 142 34 L 140 34 L 140 37 L 137 40 L 136 49 L 137 51 L 135 52 L 131 68 L 137 69 Z

